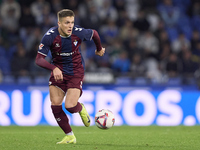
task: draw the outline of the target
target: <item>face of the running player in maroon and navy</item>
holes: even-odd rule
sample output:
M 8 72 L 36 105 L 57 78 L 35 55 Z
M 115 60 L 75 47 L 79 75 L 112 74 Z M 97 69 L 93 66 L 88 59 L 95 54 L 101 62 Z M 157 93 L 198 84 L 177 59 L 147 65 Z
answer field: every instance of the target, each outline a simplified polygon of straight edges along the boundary
M 62 36 L 69 36 L 72 34 L 74 27 L 74 17 L 63 17 L 58 21 L 59 32 Z

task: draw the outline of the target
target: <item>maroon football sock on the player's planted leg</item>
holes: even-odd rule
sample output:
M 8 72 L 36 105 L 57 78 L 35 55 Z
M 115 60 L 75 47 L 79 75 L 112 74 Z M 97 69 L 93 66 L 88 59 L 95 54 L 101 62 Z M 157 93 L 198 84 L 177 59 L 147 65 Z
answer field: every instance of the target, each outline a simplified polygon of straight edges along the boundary
M 51 105 L 51 109 L 58 125 L 65 132 L 65 134 L 71 132 L 72 129 L 69 125 L 69 119 L 62 109 L 62 105 L 61 106 Z

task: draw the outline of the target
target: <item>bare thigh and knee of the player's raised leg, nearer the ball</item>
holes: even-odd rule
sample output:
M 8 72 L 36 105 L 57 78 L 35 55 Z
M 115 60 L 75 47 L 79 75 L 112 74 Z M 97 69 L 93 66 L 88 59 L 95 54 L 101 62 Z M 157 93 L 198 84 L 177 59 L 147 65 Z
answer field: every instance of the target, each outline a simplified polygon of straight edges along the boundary
M 77 88 L 69 88 L 65 98 L 65 107 L 72 108 L 77 105 L 81 94 L 81 90 Z

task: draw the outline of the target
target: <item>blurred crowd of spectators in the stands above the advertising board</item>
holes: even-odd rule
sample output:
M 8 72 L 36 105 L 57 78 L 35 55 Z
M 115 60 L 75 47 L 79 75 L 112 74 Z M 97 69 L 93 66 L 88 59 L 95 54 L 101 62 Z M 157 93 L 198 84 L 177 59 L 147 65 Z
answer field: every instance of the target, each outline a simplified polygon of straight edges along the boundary
M 49 71 L 34 60 L 63 8 L 75 12 L 75 24 L 97 30 L 106 48 L 98 57 L 92 42 L 82 43 L 86 72 L 154 83 L 176 78 L 192 84 L 199 78 L 199 0 L 1 0 L 1 82 L 46 78 Z

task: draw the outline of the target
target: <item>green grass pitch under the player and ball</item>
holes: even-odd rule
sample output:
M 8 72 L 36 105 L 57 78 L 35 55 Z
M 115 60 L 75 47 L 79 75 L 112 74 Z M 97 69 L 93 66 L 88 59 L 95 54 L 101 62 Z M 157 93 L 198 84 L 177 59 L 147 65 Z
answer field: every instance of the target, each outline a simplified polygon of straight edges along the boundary
M 199 150 L 200 126 L 134 127 L 72 126 L 76 144 L 56 145 L 64 134 L 59 127 L 0 127 L 1 150 Z

